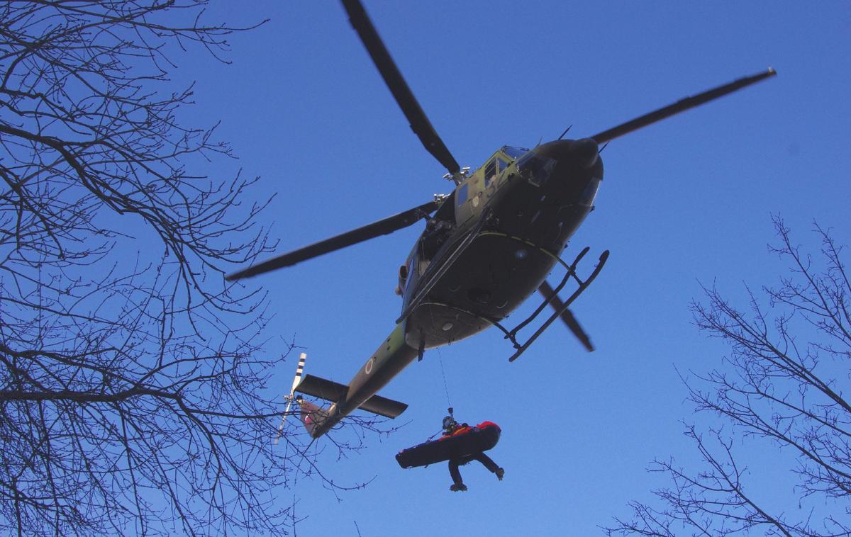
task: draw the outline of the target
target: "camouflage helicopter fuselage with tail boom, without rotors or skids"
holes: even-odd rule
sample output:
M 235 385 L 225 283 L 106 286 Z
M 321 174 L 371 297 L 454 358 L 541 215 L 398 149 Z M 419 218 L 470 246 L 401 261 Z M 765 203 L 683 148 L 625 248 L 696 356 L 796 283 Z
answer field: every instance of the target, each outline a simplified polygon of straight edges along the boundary
M 399 269 L 403 314 L 396 328 L 311 435 L 327 432 L 423 350 L 458 342 L 511 314 L 557 263 L 591 212 L 602 179 L 603 161 L 588 138 L 553 141 L 522 155 L 503 147 L 468 174 Z

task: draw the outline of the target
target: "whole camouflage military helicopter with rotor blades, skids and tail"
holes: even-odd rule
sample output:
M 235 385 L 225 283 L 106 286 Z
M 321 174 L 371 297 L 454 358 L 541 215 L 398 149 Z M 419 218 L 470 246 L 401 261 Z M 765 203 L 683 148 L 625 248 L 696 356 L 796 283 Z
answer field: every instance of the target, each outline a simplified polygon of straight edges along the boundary
M 588 249 L 570 264 L 563 262 L 560 254 L 593 208 L 597 188 L 603 180 L 600 145 L 776 74 L 769 68 L 745 76 L 588 138 L 563 139 L 563 134 L 530 150 L 505 145 L 471 172 L 470 168 L 459 166 L 431 126 L 362 3 L 359 0 L 342 0 L 342 3 L 410 127 L 426 150 L 446 168 L 448 173 L 444 178 L 454 183 L 454 189 L 407 211 L 227 276 L 227 280 L 237 280 L 264 274 L 425 221 L 420 238 L 399 267 L 396 292 L 402 297 L 402 314 L 396 328 L 348 386 L 317 376 L 302 379 L 304 359 L 300 360 L 288 395 L 290 404 L 295 392 L 331 403 L 329 408 L 321 409 L 296 399 L 312 438 L 322 436 L 358 408 L 397 417 L 408 405 L 377 395 L 380 388 L 418 356 L 421 359 L 426 349 L 460 341 L 490 326 L 499 327 L 511 340 L 516 349 L 511 360 L 517 359 L 558 318 L 563 319 L 585 348 L 593 350 L 590 338 L 568 306 L 603 268 L 608 252 L 603 252 L 585 280 L 580 279 L 576 269 Z M 567 274 L 553 288 L 545 278 L 557 263 Z M 570 279 L 575 280 L 578 288 L 563 301 L 558 293 Z M 501 321 L 536 290 L 543 295 L 544 302 L 517 327 L 505 329 Z M 517 330 L 540 314 L 547 304 L 554 313 L 528 341 L 518 342 Z

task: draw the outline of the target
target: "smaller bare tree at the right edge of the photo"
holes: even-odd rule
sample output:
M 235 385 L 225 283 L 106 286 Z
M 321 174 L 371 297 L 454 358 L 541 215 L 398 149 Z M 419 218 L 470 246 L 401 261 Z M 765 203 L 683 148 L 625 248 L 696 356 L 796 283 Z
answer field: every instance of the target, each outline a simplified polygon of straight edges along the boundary
M 672 487 L 654 491 L 656 506 L 632 502 L 631 519 L 616 519 L 607 534 L 851 534 L 851 400 L 842 392 L 851 374 L 851 282 L 829 229 L 816 226 L 820 252 L 812 256 L 780 218 L 774 226 L 780 246 L 772 251 L 789 274 L 762 288 L 764 305 L 748 290 L 745 314 L 715 288 L 693 304 L 700 330 L 730 349 L 722 368 L 686 380 L 696 409 L 720 418 L 705 433 L 686 427 L 703 466 L 654 461 L 650 471 L 668 475 Z M 788 492 L 802 515 L 748 488 L 752 474 L 739 452 L 752 443 L 778 454 L 778 464 L 794 461 Z

